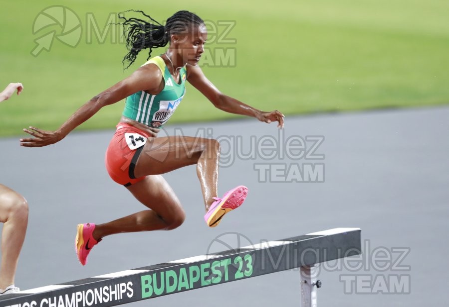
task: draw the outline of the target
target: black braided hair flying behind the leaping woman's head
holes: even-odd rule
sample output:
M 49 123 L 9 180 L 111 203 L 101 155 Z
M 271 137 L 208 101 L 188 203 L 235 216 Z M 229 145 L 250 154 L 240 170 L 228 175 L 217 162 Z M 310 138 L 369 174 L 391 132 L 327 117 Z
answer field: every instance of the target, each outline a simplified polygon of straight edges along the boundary
M 148 60 L 151 56 L 151 51 L 153 48 L 166 46 L 170 41 L 170 36 L 172 34 L 188 33 L 189 26 L 204 23 L 203 19 L 201 19 L 198 15 L 187 10 L 180 10 L 174 13 L 167 19 L 165 25 L 160 24 L 141 10 L 131 11 L 141 13 L 150 20 L 146 21 L 135 17 L 128 19 L 123 15 L 119 15 L 121 19 L 125 20 L 121 24 L 123 24 L 123 34 L 126 39 L 126 47 L 129 50 L 122 61 L 123 65 L 125 65 L 126 61 L 129 62 L 126 68 L 130 67 L 131 64 L 134 63 L 137 55 L 142 49 L 150 49 L 147 58 Z

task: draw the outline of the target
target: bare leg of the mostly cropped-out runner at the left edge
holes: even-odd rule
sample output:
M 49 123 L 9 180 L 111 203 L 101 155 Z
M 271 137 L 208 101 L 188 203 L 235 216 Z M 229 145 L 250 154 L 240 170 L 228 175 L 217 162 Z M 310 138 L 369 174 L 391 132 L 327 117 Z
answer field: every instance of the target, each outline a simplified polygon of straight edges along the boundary
M 15 270 L 28 225 L 28 204 L 13 190 L 0 184 L 1 266 L 0 289 L 14 284 Z

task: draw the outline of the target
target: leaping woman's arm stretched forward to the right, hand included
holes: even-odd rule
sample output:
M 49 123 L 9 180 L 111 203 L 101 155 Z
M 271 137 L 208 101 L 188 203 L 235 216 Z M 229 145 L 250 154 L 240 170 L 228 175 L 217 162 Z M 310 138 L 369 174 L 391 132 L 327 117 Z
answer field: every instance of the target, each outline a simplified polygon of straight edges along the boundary
M 277 121 L 278 127 L 282 128 L 284 126 L 284 115 L 281 112 L 278 110 L 264 112 L 223 94 L 206 78 L 198 65 L 188 66 L 187 80 L 221 110 L 234 114 L 252 116 L 267 123 Z

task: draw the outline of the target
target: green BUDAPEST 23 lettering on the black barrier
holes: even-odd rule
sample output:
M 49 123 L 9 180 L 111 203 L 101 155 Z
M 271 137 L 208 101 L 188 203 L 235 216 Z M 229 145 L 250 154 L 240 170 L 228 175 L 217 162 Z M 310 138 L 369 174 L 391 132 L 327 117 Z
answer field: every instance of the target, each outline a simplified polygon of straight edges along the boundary
M 142 275 L 142 299 L 251 277 L 253 258 L 246 254 Z

